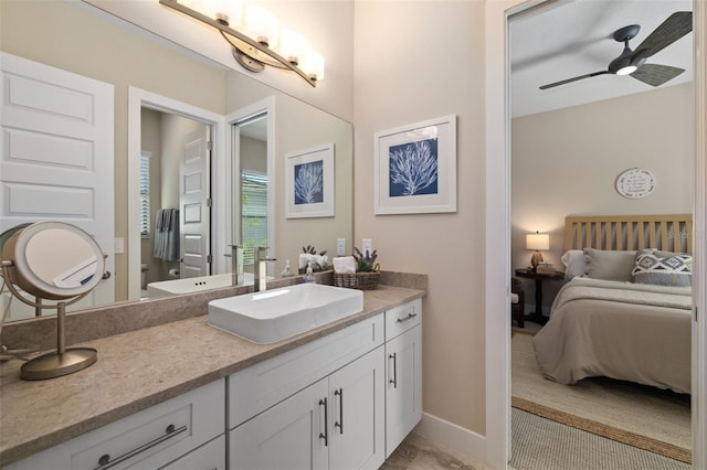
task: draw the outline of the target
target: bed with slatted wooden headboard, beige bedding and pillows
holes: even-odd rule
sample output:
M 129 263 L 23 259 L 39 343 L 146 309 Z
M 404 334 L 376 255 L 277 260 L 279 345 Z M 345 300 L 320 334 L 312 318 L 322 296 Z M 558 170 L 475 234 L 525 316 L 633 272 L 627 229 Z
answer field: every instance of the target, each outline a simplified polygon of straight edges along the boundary
M 692 231 L 689 214 L 568 216 L 567 282 L 534 338 L 542 373 L 690 393 Z

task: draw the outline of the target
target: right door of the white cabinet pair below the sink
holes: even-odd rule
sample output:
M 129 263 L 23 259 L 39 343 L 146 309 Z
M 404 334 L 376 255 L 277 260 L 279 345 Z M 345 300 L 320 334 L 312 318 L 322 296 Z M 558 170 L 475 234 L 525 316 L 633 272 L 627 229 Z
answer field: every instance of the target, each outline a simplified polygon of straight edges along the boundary
M 383 348 L 377 348 L 329 376 L 329 468 L 378 469 L 384 458 Z

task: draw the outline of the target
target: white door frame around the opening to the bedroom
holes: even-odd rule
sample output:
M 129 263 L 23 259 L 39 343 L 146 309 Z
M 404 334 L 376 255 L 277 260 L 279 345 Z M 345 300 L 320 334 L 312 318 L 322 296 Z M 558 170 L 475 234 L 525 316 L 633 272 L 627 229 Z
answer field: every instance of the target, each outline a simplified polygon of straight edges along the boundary
M 510 459 L 510 66 L 513 14 L 564 0 L 488 0 L 486 3 L 486 462 Z M 693 295 L 693 468 L 707 467 L 707 18 L 693 2 L 695 84 L 695 202 Z M 493 181 L 494 184 L 488 184 Z M 500 257 L 500 263 L 499 263 Z M 698 317 L 698 312 L 699 317 Z M 699 318 L 700 321 L 697 321 Z

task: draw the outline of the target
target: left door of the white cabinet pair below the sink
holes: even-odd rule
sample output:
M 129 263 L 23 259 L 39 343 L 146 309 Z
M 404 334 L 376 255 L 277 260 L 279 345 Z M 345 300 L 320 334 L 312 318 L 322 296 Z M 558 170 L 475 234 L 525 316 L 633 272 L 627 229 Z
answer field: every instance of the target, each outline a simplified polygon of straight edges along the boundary
M 326 469 L 330 414 L 327 378 L 230 431 L 230 469 Z

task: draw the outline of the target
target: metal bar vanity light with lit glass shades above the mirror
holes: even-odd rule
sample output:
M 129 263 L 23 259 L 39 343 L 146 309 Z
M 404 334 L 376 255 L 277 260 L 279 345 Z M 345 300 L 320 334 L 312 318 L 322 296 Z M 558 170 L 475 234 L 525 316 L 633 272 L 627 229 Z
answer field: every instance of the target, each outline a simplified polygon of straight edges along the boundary
M 268 65 L 292 71 L 312 86 L 317 86 L 317 82 L 324 79 L 324 57 L 308 51 L 305 40 L 299 34 L 288 30 L 281 34 L 275 17 L 262 8 L 250 7 L 242 21 L 240 0 L 159 2 L 215 28 L 231 45 L 235 61 L 251 72 L 263 72 Z M 244 32 L 236 28 L 242 28 Z

